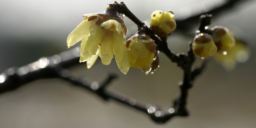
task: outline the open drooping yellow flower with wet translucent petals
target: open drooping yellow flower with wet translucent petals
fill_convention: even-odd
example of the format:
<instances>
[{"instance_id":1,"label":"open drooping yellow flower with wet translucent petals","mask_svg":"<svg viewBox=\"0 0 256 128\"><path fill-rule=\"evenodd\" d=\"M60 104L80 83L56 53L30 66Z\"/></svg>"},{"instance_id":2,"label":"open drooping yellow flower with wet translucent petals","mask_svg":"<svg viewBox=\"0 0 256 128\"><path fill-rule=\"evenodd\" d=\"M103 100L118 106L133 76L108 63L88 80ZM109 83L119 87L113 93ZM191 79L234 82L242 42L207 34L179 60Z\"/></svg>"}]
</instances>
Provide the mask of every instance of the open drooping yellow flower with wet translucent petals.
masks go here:
<instances>
[{"instance_id":1,"label":"open drooping yellow flower with wet translucent petals","mask_svg":"<svg viewBox=\"0 0 256 128\"><path fill-rule=\"evenodd\" d=\"M111 8L111 7L109 7ZM115 54L116 63L119 69L126 74L131 67L128 50L126 49L126 27L123 17L111 12L111 9L104 11L104 14L86 14L85 18L67 38L68 48L82 40L80 62L87 63L91 68L101 57L104 65L109 65Z\"/></svg>"}]
</instances>

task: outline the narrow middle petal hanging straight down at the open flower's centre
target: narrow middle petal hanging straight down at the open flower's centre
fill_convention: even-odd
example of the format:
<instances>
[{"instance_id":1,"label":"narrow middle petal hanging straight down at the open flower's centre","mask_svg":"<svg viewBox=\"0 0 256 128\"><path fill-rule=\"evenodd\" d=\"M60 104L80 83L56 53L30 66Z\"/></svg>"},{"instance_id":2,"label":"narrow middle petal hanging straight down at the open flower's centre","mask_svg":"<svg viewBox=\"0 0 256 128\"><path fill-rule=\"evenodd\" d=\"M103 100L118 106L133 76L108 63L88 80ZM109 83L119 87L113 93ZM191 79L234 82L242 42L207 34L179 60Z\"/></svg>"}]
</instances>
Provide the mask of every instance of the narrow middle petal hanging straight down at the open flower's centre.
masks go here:
<instances>
[{"instance_id":1,"label":"narrow middle petal hanging straight down at the open flower's centre","mask_svg":"<svg viewBox=\"0 0 256 128\"><path fill-rule=\"evenodd\" d=\"M100 54L101 54L102 64L104 65L110 64L114 55L113 45L114 45L113 31L107 31L100 43Z\"/></svg>"}]
</instances>

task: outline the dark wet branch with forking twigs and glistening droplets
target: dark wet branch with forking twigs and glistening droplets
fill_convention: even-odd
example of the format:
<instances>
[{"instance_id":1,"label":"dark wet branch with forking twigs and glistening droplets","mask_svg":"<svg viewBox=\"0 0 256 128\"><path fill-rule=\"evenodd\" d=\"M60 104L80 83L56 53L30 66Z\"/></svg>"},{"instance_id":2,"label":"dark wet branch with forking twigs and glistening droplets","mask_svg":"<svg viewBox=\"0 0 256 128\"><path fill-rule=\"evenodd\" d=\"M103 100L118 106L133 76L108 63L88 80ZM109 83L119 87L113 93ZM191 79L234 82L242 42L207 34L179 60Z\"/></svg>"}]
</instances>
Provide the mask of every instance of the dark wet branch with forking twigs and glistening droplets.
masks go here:
<instances>
[{"instance_id":1,"label":"dark wet branch with forking twigs and glistening droplets","mask_svg":"<svg viewBox=\"0 0 256 128\"><path fill-rule=\"evenodd\" d=\"M217 12L219 10L231 7L237 1L239 0L230 0L226 4L210 10L210 12L214 13L215 11ZM0 74L0 94L10 90L15 90L18 87L37 79L60 78L73 83L75 86L89 90L105 100L113 99L143 111L158 123L164 123L175 116L188 116L188 111L186 109L188 90L193 86L193 80L195 80L195 78L201 74L207 64L207 61L204 61L199 68L192 71L195 55L192 52L191 44L195 34L190 41L188 52L175 54L168 48L167 38L159 38L154 35L149 27L140 21L123 2L120 4L115 2L114 4L116 4L115 8L117 12L126 15L138 26L140 31L143 31L151 36L155 40L157 48L163 52L172 62L177 63L177 65L183 69L183 81L179 82L181 91L180 96L177 97L172 107L166 110L161 110L157 106L150 103L141 103L136 101L134 98L107 89L107 86L113 81L113 79L117 77L116 74L109 74L108 78L102 82L90 82L90 80L87 78L71 73L65 68L79 63L79 47L64 51L58 55L40 58L38 61L23 67L12 67L6 69L4 73ZM193 20L195 17L198 18L198 15L181 21L176 21L177 27L182 28L182 25L186 24L188 21ZM208 14L202 15L200 17L200 23L197 30L200 32L207 31L205 30L205 26L210 25L211 17L212 15Z\"/></svg>"}]
</instances>

